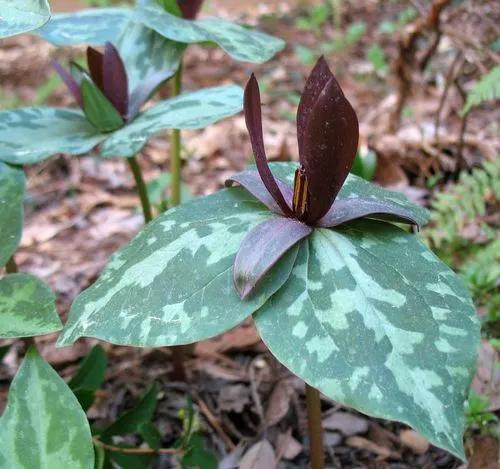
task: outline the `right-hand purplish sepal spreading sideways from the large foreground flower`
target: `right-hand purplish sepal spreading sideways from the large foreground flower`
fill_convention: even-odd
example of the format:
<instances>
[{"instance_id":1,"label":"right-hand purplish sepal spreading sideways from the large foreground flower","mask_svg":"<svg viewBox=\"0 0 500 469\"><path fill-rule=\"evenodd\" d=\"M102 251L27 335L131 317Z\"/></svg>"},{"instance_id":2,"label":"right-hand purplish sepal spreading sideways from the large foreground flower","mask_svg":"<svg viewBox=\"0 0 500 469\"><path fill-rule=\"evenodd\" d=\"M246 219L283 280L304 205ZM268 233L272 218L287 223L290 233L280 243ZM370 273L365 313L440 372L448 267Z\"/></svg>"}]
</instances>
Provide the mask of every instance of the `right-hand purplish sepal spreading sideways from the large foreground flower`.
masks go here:
<instances>
[{"instance_id":1,"label":"right-hand purplish sepal spreading sideways from the large foreground flower","mask_svg":"<svg viewBox=\"0 0 500 469\"><path fill-rule=\"evenodd\" d=\"M332 228L357 218L376 218L396 223L416 225L410 211L390 200L380 201L367 198L337 199L326 215L318 220L317 225Z\"/></svg>"}]
</instances>

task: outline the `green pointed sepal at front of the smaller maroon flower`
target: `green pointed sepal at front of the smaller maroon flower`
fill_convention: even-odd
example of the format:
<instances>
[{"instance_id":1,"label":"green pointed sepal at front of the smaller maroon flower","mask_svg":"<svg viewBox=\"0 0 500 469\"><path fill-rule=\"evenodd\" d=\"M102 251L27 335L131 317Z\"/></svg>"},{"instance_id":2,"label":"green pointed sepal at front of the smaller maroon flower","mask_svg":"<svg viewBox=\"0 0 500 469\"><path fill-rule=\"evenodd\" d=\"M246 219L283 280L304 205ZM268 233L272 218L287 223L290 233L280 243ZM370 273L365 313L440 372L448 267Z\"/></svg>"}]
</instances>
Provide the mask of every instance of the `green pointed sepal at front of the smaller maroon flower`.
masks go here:
<instances>
[{"instance_id":1,"label":"green pointed sepal at front of the smaller maroon flower","mask_svg":"<svg viewBox=\"0 0 500 469\"><path fill-rule=\"evenodd\" d=\"M85 117L98 131L112 132L123 127L120 113L90 79L84 78L80 89Z\"/></svg>"}]
</instances>

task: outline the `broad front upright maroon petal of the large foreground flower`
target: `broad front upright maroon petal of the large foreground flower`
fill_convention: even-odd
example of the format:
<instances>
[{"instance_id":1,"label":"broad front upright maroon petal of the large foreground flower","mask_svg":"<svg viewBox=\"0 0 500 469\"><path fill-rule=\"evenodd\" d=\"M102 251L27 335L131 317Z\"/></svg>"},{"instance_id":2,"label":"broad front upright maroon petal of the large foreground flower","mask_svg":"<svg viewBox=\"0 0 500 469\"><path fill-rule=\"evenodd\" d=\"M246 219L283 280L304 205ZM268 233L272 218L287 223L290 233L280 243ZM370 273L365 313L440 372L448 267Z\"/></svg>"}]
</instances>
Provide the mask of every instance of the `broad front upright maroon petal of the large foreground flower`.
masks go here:
<instances>
[{"instance_id":1,"label":"broad front upright maroon petal of the large foreground flower","mask_svg":"<svg viewBox=\"0 0 500 469\"><path fill-rule=\"evenodd\" d=\"M303 135L301 168L307 178L307 223L331 207L352 167L358 146L356 113L335 77L318 96Z\"/></svg>"}]
</instances>

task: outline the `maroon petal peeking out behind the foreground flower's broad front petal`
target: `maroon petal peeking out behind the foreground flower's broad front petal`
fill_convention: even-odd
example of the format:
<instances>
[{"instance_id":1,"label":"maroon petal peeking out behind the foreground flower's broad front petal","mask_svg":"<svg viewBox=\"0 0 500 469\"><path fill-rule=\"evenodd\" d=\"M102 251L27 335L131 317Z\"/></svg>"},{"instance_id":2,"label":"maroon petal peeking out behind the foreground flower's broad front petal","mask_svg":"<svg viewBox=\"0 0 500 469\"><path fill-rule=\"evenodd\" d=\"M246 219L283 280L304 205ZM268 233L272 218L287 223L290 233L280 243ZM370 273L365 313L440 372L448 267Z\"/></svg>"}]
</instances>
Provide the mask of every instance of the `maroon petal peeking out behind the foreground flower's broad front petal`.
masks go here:
<instances>
[{"instance_id":1,"label":"maroon petal peeking out behind the foreground flower's broad front petal","mask_svg":"<svg viewBox=\"0 0 500 469\"><path fill-rule=\"evenodd\" d=\"M302 154L304 133L314 103L332 76L333 74L328 68L325 58L321 56L307 78L304 91L300 97L299 108L297 109L297 140L299 143L299 154Z\"/></svg>"}]
</instances>

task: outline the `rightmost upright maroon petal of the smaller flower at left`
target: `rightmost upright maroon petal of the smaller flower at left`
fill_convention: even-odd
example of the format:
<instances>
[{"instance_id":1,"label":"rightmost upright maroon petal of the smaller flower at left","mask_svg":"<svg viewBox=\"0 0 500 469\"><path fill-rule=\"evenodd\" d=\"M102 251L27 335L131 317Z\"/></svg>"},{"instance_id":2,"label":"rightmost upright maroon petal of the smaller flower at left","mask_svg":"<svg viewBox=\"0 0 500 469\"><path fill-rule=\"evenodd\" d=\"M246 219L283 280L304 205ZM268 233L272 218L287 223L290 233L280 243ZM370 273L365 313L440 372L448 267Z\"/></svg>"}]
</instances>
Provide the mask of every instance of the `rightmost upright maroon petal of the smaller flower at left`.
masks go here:
<instances>
[{"instance_id":1,"label":"rightmost upright maroon petal of the smaller flower at left","mask_svg":"<svg viewBox=\"0 0 500 469\"><path fill-rule=\"evenodd\" d=\"M128 110L128 79L122 58L113 44L107 42L103 60L104 95L125 117Z\"/></svg>"}]
</instances>

